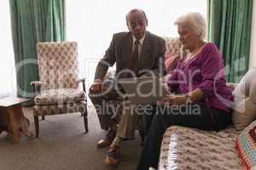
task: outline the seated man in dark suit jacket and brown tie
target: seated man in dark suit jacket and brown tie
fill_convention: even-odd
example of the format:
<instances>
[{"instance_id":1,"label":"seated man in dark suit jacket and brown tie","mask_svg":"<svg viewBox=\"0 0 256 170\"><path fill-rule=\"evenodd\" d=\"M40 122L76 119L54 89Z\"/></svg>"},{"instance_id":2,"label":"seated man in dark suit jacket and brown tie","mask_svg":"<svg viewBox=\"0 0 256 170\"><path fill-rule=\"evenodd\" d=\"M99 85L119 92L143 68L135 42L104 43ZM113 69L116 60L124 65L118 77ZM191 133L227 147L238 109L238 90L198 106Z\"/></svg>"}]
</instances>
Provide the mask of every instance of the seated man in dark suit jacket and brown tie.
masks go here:
<instances>
[{"instance_id":1,"label":"seated man in dark suit jacket and brown tie","mask_svg":"<svg viewBox=\"0 0 256 170\"><path fill-rule=\"evenodd\" d=\"M106 138L100 140L97 147L110 147L104 162L112 165L119 162L120 142L133 138L137 120L137 114L131 114L129 105L121 105L125 103L125 92L118 83L119 78L162 77L166 72L166 43L146 31L148 19L143 10L132 9L126 14L126 25L129 31L113 34L106 54L96 67L95 82L90 87L90 99L96 107L101 127L108 130ZM104 79L108 67L114 64L115 76Z\"/></svg>"}]
</instances>

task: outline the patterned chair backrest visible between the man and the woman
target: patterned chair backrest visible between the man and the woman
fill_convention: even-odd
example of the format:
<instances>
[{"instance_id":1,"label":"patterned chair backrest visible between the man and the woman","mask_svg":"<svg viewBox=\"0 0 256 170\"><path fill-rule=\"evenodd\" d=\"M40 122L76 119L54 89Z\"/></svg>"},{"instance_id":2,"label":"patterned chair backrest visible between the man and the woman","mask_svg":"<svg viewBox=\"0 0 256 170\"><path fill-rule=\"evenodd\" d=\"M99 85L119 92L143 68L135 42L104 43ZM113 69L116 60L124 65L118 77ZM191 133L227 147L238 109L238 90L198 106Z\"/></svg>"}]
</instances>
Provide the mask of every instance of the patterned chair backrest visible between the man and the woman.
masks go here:
<instances>
[{"instance_id":1,"label":"patterned chair backrest visible between the man and the woman","mask_svg":"<svg viewBox=\"0 0 256 170\"><path fill-rule=\"evenodd\" d=\"M166 40L166 54L171 55L185 55L188 53L184 50L182 43L179 41L178 37L163 37Z\"/></svg>"}]
</instances>

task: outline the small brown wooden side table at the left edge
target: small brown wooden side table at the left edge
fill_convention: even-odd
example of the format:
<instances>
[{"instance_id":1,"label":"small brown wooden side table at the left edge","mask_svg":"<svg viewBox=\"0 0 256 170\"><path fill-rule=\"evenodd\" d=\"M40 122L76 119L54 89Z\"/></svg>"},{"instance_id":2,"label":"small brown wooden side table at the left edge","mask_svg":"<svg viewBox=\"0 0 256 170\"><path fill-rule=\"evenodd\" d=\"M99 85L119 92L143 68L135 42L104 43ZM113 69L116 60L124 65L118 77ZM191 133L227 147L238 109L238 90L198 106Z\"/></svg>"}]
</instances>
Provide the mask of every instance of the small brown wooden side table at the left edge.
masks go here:
<instances>
[{"instance_id":1,"label":"small brown wooden side table at the left edge","mask_svg":"<svg viewBox=\"0 0 256 170\"><path fill-rule=\"evenodd\" d=\"M20 142L21 133L32 135L28 131L29 120L24 116L21 104L28 99L15 97L0 99L0 120L7 132L13 133L15 144Z\"/></svg>"}]
</instances>

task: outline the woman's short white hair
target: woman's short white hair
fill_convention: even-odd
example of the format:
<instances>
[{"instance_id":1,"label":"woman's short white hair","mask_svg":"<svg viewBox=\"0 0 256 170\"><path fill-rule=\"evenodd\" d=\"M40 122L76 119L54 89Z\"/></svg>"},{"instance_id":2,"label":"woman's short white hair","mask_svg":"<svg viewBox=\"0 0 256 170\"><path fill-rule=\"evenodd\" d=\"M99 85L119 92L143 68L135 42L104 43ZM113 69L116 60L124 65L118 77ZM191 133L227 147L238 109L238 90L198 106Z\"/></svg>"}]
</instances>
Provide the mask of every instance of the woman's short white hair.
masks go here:
<instances>
[{"instance_id":1,"label":"woman's short white hair","mask_svg":"<svg viewBox=\"0 0 256 170\"><path fill-rule=\"evenodd\" d=\"M200 13L184 14L179 17L174 24L193 31L195 35L199 36L202 40L207 36L207 21Z\"/></svg>"}]
</instances>

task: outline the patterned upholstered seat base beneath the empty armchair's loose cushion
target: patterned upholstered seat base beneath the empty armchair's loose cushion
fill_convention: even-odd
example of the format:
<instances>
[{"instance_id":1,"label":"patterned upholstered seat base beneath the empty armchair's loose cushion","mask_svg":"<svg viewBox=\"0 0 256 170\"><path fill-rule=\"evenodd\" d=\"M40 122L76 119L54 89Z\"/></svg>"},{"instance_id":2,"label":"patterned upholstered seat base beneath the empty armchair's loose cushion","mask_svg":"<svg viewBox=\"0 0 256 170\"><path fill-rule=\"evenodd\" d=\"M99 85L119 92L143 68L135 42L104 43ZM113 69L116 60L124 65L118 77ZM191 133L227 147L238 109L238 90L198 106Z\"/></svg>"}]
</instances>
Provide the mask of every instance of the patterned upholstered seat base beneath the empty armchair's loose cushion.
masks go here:
<instances>
[{"instance_id":1,"label":"patterned upholstered seat base beneath the empty armchair's loose cushion","mask_svg":"<svg viewBox=\"0 0 256 170\"><path fill-rule=\"evenodd\" d=\"M33 108L34 116L58 115L65 113L75 113L86 111L86 102L69 102L64 105L35 105Z\"/></svg>"}]
</instances>

